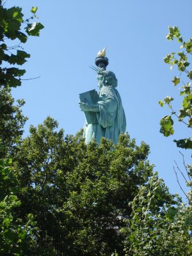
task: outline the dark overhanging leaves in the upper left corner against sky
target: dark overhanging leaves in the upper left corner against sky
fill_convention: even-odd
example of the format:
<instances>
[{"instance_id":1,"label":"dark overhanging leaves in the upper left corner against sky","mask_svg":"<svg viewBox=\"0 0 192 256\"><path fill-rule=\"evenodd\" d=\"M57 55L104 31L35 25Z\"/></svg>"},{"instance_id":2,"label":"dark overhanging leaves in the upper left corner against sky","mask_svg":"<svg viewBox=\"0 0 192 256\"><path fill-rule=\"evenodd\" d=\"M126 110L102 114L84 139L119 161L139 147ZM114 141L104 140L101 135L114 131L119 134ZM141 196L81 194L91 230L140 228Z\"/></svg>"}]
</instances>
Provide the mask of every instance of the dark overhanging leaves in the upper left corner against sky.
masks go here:
<instances>
[{"instance_id":1,"label":"dark overhanging leaves in the upper left corner against sky","mask_svg":"<svg viewBox=\"0 0 192 256\"><path fill-rule=\"evenodd\" d=\"M22 8L5 8L3 1L0 1L0 87L17 87L21 84L20 77L26 70L18 65L22 66L30 57L23 51L22 44L27 42L29 35L39 36L40 29L44 28L40 22L32 22L36 18L36 10L37 7L33 7L32 16L24 19Z\"/></svg>"}]
</instances>

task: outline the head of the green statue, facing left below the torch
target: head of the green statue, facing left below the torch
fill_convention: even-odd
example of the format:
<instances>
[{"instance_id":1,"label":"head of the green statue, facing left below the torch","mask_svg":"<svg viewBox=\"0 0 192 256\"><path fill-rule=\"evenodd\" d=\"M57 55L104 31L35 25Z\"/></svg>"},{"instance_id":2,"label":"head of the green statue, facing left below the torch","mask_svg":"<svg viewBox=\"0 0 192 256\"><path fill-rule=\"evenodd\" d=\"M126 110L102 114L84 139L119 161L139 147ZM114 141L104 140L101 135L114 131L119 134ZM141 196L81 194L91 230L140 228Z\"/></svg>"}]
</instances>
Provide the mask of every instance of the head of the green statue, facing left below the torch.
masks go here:
<instances>
[{"instance_id":1,"label":"head of the green statue, facing left below the torch","mask_svg":"<svg viewBox=\"0 0 192 256\"><path fill-rule=\"evenodd\" d=\"M110 70L104 70L101 74L98 74L97 81L99 89L102 88L102 86L115 88L118 83L115 74Z\"/></svg>"}]
</instances>

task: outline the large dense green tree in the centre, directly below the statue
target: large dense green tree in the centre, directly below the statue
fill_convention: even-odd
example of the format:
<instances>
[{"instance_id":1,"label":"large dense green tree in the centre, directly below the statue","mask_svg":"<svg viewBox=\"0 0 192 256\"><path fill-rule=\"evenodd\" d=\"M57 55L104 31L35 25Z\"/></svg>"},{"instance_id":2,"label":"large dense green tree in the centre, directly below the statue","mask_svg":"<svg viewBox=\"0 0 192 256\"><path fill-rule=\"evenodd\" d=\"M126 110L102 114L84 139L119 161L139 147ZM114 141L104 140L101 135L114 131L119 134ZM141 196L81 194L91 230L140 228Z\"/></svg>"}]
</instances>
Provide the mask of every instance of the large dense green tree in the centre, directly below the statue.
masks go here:
<instances>
[{"instance_id":1,"label":"large dense green tree in the centre, directly below the statue","mask_svg":"<svg viewBox=\"0 0 192 256\"><path fill-rule=\"evenodd\" d=\"M50 117L31 126L14 159L18 216L33 214L40 230L31 255L124 255L116 229L125 223L117 217L131 215L129 202L152 175L148 145L123 134L115 146L106 139L85 145L81 132L57 129Z\"/></svg>"}]
</instances>

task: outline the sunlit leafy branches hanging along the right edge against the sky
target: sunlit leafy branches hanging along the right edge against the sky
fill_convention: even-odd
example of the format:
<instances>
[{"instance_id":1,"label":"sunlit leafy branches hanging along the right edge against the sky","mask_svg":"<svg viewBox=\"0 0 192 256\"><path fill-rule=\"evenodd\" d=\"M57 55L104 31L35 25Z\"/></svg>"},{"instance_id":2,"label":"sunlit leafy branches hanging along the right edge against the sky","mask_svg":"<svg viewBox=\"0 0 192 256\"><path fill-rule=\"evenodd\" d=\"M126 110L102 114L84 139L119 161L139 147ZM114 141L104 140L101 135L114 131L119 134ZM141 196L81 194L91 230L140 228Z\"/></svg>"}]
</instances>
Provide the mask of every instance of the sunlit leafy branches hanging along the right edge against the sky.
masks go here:
<instances>
[{"instance_id":1,"label":"sunlit leafy branches hanging along the right edge against the sky","mask_svg":"<svg viewBox=\"0 0 192 256\"><path fill-rule=\"evenodd\" d=\"M170 54L167 54L164 58L164 62L171 65L170 68L172 69L174 65L177 66L180 76L174 76L173 77L173 84L174 86L177 86L180 83L181 75L184 77L184 79L188 79L186 83L184 83L180 88L182 88L182 91L180 91L180 96L183 97L182 99L182 107L179 109L179 113L173 109L172 101L173 97L166 97L163 100L159 100L159 104L161 107L164 106L164 104L167 104L168 107L172 110L171 115L164 116L161 121L161 129L160 132L164 134L164 136L170 136L174 133L173 129L173 116L177 118L179 122L182 122L182 124L186 125L187 127L192 127L192 94L191 94L191 80L192 80L192 70L189 68L190 63L188 62L189 56L192 54L192 38L190 38L187 42L184 42L180 35L179 28L177 27L171 27L169 26L169 33L166 35L167 40L173 40L173 38L177 38L177 41L181 44L180 49L183 49L183 51L177 52L177 56L175 52L171 52ZM177 147L180 148L192 148L192 141L191 138L181 138L180 140L174 140L177 144Z\"/></svg>"}]
</instances>

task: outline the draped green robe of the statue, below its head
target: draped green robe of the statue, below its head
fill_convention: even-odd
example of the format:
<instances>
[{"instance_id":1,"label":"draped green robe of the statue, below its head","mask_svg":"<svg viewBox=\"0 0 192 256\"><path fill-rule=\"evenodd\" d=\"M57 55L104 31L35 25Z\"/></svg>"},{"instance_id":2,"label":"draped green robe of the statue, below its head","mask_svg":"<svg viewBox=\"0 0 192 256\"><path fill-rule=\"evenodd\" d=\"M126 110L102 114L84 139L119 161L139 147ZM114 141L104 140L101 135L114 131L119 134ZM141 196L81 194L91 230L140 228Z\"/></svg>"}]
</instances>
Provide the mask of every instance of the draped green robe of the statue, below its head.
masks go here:
<instances>
[{"instance_id":1,"label":"draped green robe of the statue, below its head","mask_svg":"<svg viewBox=\"0 0 192 256\"><path fill-rule=\"evenodd\" d=\"M118 91L112 86L103 86L99 92L98 124L84 125L83 137L88 144L92 139L97 143L102 137L118 143L118 136L126 129L126 120L122 100Z\"/></svg>"}]
</instances>

